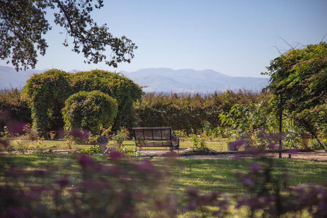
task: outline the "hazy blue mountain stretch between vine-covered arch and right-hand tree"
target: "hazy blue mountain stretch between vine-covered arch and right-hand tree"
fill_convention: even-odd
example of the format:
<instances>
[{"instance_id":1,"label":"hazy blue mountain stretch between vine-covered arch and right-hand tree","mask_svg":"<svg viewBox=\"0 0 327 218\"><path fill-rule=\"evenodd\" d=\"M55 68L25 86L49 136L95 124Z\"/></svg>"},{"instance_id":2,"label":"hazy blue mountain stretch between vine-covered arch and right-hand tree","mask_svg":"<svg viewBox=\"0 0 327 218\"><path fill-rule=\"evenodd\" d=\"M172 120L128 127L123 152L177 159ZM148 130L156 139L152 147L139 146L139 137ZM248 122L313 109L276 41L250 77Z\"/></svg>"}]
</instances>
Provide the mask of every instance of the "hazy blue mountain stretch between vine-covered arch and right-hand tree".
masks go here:
<instances>
[{"instance_id":1,"label":"hazy blue mountain stretch between vine-covered arch and right-hand tree","mask_svg":"<svg viewBox=\"0 0 327 218\"><path fill-rule=\"evenodd\" d=\"M171 68L146 68L134 72L120 71L140 85L148 86L144 91L156 92L213 92L226 89L258 89L268 84L267 78L232 77L214 70Z\"/></svg>"}]
</instances>

